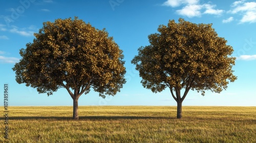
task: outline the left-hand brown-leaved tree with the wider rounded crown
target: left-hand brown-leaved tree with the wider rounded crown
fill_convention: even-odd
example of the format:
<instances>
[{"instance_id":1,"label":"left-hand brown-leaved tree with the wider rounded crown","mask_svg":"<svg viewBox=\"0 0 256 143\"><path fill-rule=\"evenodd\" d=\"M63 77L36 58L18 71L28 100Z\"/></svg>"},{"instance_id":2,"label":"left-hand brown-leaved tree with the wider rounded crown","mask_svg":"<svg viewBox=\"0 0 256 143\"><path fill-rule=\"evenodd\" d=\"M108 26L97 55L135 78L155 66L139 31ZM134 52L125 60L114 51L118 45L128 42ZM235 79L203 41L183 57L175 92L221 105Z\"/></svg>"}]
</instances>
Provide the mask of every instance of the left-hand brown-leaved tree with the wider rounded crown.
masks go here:
<instances>
[{"instance_id":1,"label":"left-hand brown-leaved tree with the wider rounded crown","mask_svg":"<svg viewBox=\"0 0 256 143\"><path fill-rule=\"evenodd\" d=\"M108 32L95 29L78 17L44 22L33 43L19 54L13 70L17 83L53 94L66 88L78 120L78 98L90 89L114 96L125 83L122 51Z\"/></svg>"}]
</instances>

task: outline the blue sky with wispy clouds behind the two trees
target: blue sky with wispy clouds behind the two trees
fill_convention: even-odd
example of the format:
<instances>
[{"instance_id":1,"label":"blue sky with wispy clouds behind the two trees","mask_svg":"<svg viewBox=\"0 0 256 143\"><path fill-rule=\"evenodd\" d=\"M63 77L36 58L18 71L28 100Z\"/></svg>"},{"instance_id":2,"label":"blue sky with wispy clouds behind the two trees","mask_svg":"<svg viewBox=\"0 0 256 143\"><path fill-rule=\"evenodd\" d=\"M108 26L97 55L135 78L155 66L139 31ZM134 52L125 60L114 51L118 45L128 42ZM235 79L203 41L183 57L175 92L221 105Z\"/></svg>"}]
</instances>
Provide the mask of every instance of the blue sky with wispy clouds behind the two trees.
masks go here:
<instances>
[{"instance_id":1,"label":"blue sky with wispy clouds behind the two trees","mask_svg":"<svg viewBox=\"0 0 256 143\"><path fill-rule=\"evenodd\" d=\"M138 71L131 60L140 46L148 45L147 36L156 33L168 20L184 18L195 23L212 23L237 57L233 66L238 80L221 93L206 91L204 97L189 91L183 105L193 106L256 106L256 2L203 0L104 0L60 1L20 0L0 1L0 86L9 84L10 106L72 106L65 89L48 97L36 89L17 84L12 67L21 58L19 49L32 42L33 33L42 22L78 16L97 29L106 28L123 50L127 80L115 97L98 97L90 92L79 98L79 105L167 105L176 106L169 89L160 93L142 87ZM4 87L0 87L0 92Z\"/></svg>"}]
</instances>

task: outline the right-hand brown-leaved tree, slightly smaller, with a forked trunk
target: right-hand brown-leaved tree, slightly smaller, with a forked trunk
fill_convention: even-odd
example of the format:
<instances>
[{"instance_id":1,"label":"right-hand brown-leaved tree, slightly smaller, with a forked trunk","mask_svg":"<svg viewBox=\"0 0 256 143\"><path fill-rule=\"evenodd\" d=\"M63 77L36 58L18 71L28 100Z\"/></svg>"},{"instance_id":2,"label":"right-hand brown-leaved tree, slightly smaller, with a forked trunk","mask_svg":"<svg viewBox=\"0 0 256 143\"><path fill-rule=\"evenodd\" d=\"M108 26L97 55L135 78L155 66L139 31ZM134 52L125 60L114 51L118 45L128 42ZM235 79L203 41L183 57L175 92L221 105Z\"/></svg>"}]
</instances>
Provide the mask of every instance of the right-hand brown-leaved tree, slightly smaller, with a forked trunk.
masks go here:
<instances>
[{"instance_id":1,"label":"right-hand brown-leaved tree, slightly smaller, with a forked trunk","mask_svg":"<svg viewBox=\"0 0 256 143\"><path fill-rule=\"evenodd\" d=\"M190 89L202 96L205 90L220 93L237 79L231 69L236 58L229 56L233 49L211 26L169 20L167 26L159 26L159 33L148 36L150 45L141 46L132 60L144 88L155 93L170 89L177 118L182 118L182 102Z\"/></svg>"}]
</instances>

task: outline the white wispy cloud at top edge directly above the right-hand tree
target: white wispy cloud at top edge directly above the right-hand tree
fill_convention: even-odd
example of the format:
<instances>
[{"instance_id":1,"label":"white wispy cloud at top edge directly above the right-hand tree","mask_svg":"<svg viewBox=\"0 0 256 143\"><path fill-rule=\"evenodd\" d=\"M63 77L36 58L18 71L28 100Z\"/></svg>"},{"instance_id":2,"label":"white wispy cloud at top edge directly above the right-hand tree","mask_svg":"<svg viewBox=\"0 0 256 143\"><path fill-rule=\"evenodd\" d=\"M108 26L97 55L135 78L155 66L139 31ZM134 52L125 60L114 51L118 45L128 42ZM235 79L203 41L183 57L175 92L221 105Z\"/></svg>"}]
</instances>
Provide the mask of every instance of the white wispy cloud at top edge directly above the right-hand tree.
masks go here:
<instances>
[{"instance_id":1,"label":"white wispy cloud at top edge directly above the right-hand tree","mask_svg":"<svg viewBox=\"0 0 256 143\"><path fill-rule=\"evenodd\" d=\"M182 9L176 10L177 14L191 17L200 17L202 14L221 15L224 10L215 9L216 5L211 3L200 4L199 0L167 0L163 6L179 7Z\"/></svg>"}]
</instances>

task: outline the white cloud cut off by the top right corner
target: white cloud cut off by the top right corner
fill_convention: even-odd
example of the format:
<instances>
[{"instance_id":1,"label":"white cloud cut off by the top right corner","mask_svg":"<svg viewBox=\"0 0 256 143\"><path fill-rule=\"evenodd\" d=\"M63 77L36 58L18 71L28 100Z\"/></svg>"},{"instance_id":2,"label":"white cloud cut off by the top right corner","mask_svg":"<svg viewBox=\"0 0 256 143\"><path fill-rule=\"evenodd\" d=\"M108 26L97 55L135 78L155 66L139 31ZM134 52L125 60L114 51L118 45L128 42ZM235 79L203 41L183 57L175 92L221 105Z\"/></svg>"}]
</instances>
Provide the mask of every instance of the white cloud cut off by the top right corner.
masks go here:
<instances>
[{"instance_id":1,"label":"white cloud cut off by the top right corner","mask_svg":"<svg viewBox=\"0 0 256 143\"><path fill-rule=\"evenodd\" d=\"M231 7L232 9L229 13L242 15L240 23L256 22L256 2L245 2L244 0L236 1L231 5Z\"/></svg>"}]
</instances>

